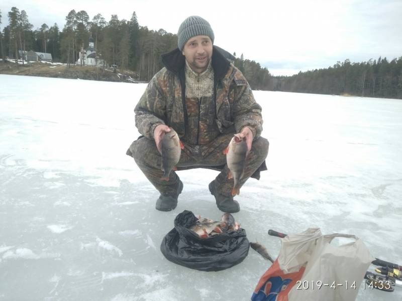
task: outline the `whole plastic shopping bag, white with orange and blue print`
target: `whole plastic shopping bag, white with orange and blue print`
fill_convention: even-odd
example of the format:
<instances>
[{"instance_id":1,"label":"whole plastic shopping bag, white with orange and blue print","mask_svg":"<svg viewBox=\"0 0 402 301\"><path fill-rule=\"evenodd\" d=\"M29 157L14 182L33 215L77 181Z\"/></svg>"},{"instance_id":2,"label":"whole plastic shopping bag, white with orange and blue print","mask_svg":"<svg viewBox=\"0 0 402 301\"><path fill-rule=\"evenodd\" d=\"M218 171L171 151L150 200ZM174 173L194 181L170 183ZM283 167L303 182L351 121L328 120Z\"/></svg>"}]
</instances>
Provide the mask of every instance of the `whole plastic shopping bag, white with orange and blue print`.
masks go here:
<instances>
[{"instance_id":1,"label":"whole plastic shopping bag, white with orange and blue print","mask_svg":"<svg viewBox=\"0 0 402 301\"><path fill-rule=\"evenodd\" d=\"M354 241L331 244L337 237ZM278 257L261 276L251 300L354 301L356 288L373 259L364 242L352 234L323 235L319 228L309 228L288 235L282 240Z\"/></svg>"}]
</instances>

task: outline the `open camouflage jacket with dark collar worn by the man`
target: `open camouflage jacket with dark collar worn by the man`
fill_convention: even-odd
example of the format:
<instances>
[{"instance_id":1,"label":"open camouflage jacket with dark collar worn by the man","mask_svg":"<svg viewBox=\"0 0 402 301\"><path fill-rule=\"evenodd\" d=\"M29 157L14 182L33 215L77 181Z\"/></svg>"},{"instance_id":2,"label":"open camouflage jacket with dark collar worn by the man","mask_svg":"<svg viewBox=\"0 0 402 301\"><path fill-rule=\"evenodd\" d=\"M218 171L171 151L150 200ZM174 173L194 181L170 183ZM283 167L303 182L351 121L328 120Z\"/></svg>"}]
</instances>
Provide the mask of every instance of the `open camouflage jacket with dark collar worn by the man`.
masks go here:
<instances>
[{"instance_id":1,"label":"open camouflage jacket with dark collar worn by the man","mask_svg":"<svg viewBox=\"0 0 402 301\"><path fill-rule=\"evenodd\" d=\"M185 105L185 58L178 49L162 55L162 68L149 82L135 107L135 124L138 131L153 139L157 125L166 124L175 129L179 137L185 136L187 112ZM256 103L250 85L243 74L217 50L213 49L214 100L209 112L214 126L221 133L240 132L250 127L254 139L262 131L261 106Z\"/></svg>"}]
</instances>

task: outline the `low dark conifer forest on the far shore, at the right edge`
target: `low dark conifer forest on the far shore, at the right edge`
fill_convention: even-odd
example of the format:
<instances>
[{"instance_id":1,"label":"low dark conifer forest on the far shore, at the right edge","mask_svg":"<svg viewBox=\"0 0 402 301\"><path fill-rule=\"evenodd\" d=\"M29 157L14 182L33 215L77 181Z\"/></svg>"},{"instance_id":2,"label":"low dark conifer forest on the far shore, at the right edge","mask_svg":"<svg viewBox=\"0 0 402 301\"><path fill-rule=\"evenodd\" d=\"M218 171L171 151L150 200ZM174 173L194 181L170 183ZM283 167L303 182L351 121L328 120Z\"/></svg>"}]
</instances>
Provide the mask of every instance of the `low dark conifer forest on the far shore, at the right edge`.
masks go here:
<instances>
[{"instance_id":1,"label":"low dark conifer forest on the far shore, at the right edge","mask_svg":"<svg viewBox=\"0 0 402 301\"><path fill-rule=\"evenodd\" d=\"M272 78L269 90L402 99L402 57L338 61L333 67Z\"/></svg>"}]
</instances>

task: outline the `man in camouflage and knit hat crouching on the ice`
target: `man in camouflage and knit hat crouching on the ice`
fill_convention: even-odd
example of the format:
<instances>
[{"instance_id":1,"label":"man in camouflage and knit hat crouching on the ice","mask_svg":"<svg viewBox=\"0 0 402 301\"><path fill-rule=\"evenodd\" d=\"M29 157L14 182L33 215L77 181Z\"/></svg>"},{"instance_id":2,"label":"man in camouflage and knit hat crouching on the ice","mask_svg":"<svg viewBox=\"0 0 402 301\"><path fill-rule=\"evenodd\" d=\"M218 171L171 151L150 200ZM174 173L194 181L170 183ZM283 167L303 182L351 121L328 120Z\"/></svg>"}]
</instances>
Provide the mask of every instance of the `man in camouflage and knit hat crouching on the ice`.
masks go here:
<instances>
[{"instance_id":1,"label":"man in camouflage and knit hat crouching on the ice","mask_svg":"<svg viewBox=\"0 0 402 301\"><path fill-rule=\"evenodd\" d=\"M198 16L180 25L175 50L163 54L161 69L149 82L135 112L135 124L143 135L127 150L148 180L160 192L156 209L170 211L177 206L183 183L172 171L161 179L162 156L157 146L173 128L183 143L177 170L209 168L221 173L209 184L218 208L240 210L233 199L223 154L235 133L245 139L249 154L240 187L249 177L259 179L266 170L268 140L262 131L261 106L243 74L213 46L210 24Z\"/></svg>"}]
</instances>

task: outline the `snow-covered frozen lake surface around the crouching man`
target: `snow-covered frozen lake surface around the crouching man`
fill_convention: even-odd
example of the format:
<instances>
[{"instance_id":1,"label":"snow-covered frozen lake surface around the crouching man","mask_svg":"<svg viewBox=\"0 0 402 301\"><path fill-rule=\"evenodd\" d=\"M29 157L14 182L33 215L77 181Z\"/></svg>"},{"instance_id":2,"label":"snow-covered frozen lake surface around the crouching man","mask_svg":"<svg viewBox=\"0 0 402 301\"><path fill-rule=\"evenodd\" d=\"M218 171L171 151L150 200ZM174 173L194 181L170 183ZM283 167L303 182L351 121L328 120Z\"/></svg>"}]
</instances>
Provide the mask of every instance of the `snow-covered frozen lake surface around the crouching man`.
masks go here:
<instances>
[{"instance_id":1,"label":"snow-covered frozen lake surface around the crouching man","mask_svg":"<svg viewBox=\"0 0 402 301\"><path fill-rule=\"evenodd\" d=\"M220 272L175 265L159 250L175 216L220 212L217 172L178 172L177 208L126 156L145 84L0 75L0 299L249 300L270 263L254 250ZM273 257L285 233L320 227L362 238L402 263L402 100L254 91L270 142L268 171L234 214ZM374 266L370 266L373 270ZM358 300L402 298L362 288Z\"/></svg>"}]
</instances>

